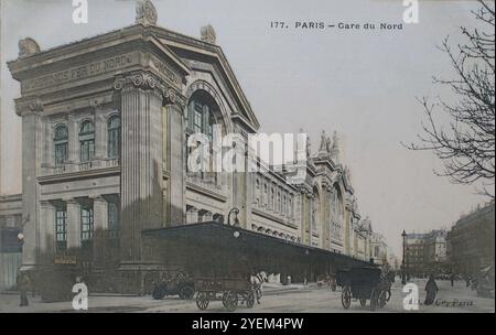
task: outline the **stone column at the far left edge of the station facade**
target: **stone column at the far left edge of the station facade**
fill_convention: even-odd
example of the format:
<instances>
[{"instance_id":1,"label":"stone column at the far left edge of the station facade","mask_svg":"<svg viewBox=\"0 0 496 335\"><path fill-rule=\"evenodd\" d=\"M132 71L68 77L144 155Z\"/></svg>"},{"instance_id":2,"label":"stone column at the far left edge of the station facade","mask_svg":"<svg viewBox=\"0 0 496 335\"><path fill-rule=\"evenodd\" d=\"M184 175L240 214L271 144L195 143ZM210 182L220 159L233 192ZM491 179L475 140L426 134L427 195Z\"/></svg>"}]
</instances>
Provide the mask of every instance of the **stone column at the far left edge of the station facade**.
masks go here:
<instances>
[{"instance_id":1,"label":"stone column at the far left edge of the station facade","mask_svg":"<svg viewBox=\"0 0 496 335\"><path fill-rule=\"evenodd\" d=\"M23 270L33 269L37 263L40 247L40 185L43 105L37 98L20 98L15 110L22 117L22 223L24 246Z\"/></svg>"}]
</instances>

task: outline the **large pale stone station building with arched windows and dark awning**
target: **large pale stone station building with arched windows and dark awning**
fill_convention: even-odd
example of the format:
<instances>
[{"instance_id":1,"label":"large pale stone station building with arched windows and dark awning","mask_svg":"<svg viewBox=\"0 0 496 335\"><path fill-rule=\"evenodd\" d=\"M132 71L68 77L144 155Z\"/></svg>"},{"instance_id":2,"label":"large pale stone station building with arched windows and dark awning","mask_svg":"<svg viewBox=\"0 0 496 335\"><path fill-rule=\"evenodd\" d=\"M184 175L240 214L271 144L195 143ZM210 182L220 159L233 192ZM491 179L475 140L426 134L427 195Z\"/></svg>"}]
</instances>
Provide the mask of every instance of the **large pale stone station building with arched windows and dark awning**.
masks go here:
<instances>
[{"instance_id":1,"label":"large pale stone station building with arched windows and dark awning","mask_svg":"<svg viewBox=\"0 0 496 335\"><path fill-rule=\"evenodd\" d=\"M8 63L21 84L21 269L35 280L76 269L93 291L143 293L177 269L301 282L368 262L371 227L337 137L298 185L273 169L187 171L192 132L247 138L259 123L212 26L194 39L155 23L46 51L24 39Z\"/></svg>"}]
</instances>

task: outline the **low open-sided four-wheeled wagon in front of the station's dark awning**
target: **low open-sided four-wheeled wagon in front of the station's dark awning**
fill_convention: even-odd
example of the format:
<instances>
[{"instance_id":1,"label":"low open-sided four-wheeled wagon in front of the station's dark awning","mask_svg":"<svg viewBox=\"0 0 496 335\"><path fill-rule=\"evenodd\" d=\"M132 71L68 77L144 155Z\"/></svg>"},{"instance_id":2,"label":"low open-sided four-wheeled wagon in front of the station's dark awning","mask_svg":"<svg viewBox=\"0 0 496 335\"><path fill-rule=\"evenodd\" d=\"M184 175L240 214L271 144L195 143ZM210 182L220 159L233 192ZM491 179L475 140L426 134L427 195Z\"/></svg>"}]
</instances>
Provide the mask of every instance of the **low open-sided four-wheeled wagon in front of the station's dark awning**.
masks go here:
<instances>
[{"instance_id":1,"label":"low open-sided four-wheeled wagon in front of the station's dark awning","mask_svg":"<svg viewBox=\"0 0 496 335\"><path fill-rule=\"evenodd\" d=\"M248 279L244 278L197 278L195 281L196 305L206 310L211 301L222 301L224 307L233 312L238 303L251 309L255 304L257 290Z\"/></svg>"}]
</instances>

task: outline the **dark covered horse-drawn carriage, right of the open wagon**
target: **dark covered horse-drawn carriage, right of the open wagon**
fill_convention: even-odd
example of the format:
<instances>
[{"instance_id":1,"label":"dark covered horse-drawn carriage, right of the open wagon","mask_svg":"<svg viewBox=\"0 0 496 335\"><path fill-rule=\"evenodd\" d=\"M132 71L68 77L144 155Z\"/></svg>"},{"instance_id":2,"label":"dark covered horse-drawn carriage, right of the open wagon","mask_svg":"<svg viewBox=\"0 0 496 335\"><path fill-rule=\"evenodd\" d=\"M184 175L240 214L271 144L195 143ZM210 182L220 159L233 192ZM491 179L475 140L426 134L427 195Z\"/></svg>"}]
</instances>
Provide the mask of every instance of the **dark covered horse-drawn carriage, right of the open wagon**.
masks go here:
<instances>
[{"instance_id":1,"label":"dark covered horse-drawn carriage, right of the open wagon","mask_svg":"<svg viewBox=\"0 0 496 335\"><path fill-rule=\"evenodd\" d=\"M390 279L375 267L355 267L336 273L336 281L342 287L341 302L349 309L352 299L357 299L362 306L370 300L370 310L384 307L390 299Z\"/></svg>"}]
</instances>

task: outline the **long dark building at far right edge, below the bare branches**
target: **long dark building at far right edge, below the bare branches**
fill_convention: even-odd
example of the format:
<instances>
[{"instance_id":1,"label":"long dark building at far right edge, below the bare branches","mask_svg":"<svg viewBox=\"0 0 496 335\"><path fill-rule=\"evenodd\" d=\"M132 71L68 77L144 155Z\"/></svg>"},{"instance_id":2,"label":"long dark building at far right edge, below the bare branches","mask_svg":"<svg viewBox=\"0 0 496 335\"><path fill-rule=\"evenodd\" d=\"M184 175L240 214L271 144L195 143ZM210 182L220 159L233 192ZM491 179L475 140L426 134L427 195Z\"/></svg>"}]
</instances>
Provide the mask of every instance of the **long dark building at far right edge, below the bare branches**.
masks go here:
<instances>
[{"instance_id":1,"label":"long dark building at far right edge, below the bare branches","mask_svg":"<svg viewBox=\"0 0 496 335\"><path fill-rule=\"evenodd\" d=\"M472 274L494 266L494 203L456 221L448 233L448 257L453 270Z\"/></svg>"}]
</instances>

